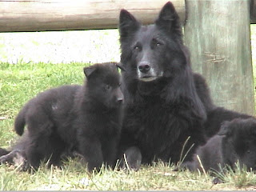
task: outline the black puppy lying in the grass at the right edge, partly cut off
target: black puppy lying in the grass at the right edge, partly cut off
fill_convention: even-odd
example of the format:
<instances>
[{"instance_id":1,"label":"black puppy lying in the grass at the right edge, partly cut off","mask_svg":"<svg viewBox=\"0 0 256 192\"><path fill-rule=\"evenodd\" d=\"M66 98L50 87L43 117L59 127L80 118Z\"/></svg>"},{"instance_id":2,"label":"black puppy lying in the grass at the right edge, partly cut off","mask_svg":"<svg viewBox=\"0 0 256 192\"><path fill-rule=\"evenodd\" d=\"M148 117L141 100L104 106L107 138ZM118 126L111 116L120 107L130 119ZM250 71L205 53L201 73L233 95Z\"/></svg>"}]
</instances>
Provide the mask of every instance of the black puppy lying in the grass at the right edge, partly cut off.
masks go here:
<instances>
[{"instance_id":1,"label":"black puppy lying in the grass at the right edge, partly cut off","mask_svg":"<svg viewBox=\"0 0 256 192\"><path fill-rule=\"evenodd\" d=\"M201 162L199 162L199 160ZM217 135L198 147L193 162L187 162L189 170L214 170L229 165L234 168L235 162L248 169L256 169L256 119L235 118L223 122Z\"/></svg>"}]
</instances>

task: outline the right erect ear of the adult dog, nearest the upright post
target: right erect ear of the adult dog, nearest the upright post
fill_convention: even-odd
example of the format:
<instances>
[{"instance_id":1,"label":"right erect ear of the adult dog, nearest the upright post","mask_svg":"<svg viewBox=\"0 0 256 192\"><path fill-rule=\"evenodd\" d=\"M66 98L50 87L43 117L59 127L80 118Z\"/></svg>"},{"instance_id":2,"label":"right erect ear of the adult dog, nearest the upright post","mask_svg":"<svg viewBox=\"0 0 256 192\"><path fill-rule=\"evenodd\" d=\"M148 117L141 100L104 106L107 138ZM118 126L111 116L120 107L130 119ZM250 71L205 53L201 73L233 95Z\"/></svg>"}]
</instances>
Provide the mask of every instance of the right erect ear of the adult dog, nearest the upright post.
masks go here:
<instances>
[{"instance_id":1,"label":"right erect ear of the adult dog, nearest the upright post","mask_svg":"<svg viewBox=\"0 0 256 192\"><path fill-rule=\"evenodd\" d=\"M167 32L177 31L181 33L179 17L171 2L167 2L166 5L162 7L155 24Z\"/></svg>"}]
</instances>

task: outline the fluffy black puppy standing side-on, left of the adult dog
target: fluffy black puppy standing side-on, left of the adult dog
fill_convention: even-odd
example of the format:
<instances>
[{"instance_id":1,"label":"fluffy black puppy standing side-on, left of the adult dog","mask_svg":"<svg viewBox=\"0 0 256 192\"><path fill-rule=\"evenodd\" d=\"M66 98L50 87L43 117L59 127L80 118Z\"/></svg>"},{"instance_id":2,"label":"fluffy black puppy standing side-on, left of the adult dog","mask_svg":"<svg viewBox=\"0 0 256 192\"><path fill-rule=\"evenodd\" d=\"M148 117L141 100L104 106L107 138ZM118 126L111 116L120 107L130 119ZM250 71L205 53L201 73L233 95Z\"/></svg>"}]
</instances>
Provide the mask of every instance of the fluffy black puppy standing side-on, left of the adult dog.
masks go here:
<instances>
[{"instance_id":1,"label":"fluffy black puppy standing side-on, left of the adult dog","mask_svg":"<svg viewBox=\"0 0 256 192\"><path fill-rule=\"evenodd\" d=\"M25 152L37 169L43 159L59 165L62 154L78 151L88 170L113 165L122 125L123 94L115 63L85 67L84 86L60 86L32 98L15 119L19 135L14 150Z\"/></svg>"}]
</instances>

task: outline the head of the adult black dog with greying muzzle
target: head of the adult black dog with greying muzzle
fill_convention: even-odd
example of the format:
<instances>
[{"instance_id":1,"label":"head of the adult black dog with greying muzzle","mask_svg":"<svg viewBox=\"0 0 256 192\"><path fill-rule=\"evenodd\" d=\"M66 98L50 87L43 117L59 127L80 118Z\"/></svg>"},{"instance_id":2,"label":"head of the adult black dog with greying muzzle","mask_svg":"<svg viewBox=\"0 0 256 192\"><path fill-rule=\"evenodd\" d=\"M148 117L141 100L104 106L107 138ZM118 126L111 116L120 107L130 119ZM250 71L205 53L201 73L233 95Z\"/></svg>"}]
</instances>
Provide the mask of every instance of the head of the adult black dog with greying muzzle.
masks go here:
<instances>
[{"instance_id":1,"label":"head of the adult black dog with greying muzzle","mask_svg":"<svg viewBox=\"0 0 256 192\"><path fill-rule=\"evenodd\" d=\"M151 82L177 74L186 63L182 50L182 29L171 2L167 2L154 25L142 26L127 10L119 18L121 62L126 73Z\"/></svg>"}]
</instances>

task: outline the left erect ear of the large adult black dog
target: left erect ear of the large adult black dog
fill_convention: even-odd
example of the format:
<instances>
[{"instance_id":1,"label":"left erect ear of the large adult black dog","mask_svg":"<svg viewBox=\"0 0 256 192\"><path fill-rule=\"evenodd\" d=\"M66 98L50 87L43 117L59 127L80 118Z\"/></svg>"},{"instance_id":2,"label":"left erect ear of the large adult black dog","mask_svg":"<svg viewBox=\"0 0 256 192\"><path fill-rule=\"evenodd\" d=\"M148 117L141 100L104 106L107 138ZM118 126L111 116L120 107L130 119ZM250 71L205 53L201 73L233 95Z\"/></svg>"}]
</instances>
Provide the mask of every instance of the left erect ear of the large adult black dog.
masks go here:
<instances>
[{"instance_id":1,"label":"left erect ear of the large adult black dog","mask_svg":"<svg viewBox=\"0 0 256 192\"><path fill-rule=\"evenodd\" d=\"M119 15L120 38L126 38L129 34L134 34L138 30L140 23L127 10L121 10Z\"/></svg>"}]
</instances>

